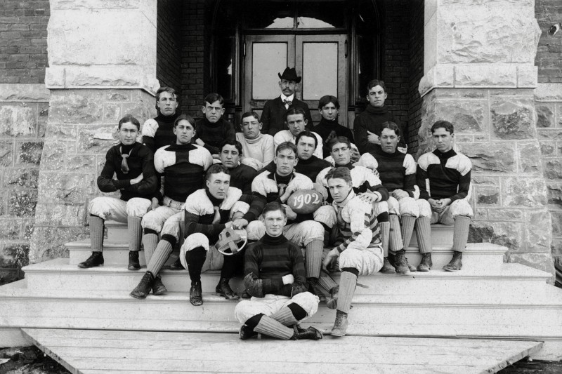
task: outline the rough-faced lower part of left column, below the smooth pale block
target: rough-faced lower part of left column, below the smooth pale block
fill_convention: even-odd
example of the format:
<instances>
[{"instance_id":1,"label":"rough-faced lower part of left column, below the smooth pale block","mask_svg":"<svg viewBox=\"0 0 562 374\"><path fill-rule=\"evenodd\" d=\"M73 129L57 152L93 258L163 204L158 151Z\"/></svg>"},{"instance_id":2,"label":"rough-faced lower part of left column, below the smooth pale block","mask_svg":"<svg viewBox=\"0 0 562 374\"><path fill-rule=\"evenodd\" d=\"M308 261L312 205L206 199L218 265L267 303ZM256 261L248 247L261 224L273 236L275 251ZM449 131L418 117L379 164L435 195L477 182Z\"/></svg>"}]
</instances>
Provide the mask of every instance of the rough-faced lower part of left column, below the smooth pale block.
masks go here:
<instances>
[{"instance_id":1,"label":"rough-faced lower part of left column, below the smooth pale block","mask_svg":"<svg viewBox=\"0 0 562 374\"><path fill-rule=\"evenodd\" d=\"M67 257L64 243L88 236L86 207L101 194L96 178L117 144L117 122L155 116L155 98L143 90L51 90L50 105L30 262Z\"/></svg>"}]
</instances>

